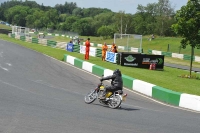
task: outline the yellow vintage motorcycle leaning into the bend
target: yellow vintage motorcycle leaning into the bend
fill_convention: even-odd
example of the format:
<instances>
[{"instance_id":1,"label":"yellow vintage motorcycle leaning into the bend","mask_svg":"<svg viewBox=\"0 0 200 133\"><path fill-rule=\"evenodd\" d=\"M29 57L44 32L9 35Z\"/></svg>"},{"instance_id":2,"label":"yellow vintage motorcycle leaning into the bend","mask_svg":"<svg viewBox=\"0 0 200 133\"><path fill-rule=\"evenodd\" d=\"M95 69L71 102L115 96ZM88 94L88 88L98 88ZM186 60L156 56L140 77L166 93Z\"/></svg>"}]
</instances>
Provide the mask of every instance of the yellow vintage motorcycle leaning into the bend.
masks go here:
<instances>
[{"instance_id":1,"label":"yellow vintage motorcycle leaning into the bend","mask_svg":"<svg viewBox=\"0 0 200 133\"><path fill-rule=\"evenodd\" d=\"M92 89L90 93L88 93L85 96L85 103L90 104L94 102L97 98L99 99L100 96L102 96L104 91L104 84L101 81L100 84L98 84L96 89ZM99 99L99 102L103 105L108 105L112 109L116 109L121 107L122 101L126 100L127 94L123 94L122 90L118 90L115 92L107 92L105 99Z\"/></svg>"}]
</instances>

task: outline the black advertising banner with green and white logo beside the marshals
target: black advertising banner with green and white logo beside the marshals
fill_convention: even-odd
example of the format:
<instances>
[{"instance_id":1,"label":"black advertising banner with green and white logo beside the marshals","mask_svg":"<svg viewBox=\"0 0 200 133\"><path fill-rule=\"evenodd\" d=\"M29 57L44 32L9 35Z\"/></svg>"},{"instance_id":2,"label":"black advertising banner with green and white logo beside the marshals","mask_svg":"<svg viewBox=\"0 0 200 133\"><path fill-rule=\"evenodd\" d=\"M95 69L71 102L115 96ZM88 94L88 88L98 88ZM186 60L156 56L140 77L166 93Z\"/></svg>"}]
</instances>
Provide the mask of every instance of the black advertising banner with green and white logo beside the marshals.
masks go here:
<instances>
[{"instance_id":1,"label":"black advertising banner with green and white logo beside the marshals","mask_svg":"<svg viewBox=\"0 0 200 133\"><path fill-rule=\"evenodd\" d=\"M147 54L133 54L121 53L120 65L138 68L149 68L150 64L156 64L156 69L163 69L164 55L147 55Z\"/></svg>"}]
</instances>

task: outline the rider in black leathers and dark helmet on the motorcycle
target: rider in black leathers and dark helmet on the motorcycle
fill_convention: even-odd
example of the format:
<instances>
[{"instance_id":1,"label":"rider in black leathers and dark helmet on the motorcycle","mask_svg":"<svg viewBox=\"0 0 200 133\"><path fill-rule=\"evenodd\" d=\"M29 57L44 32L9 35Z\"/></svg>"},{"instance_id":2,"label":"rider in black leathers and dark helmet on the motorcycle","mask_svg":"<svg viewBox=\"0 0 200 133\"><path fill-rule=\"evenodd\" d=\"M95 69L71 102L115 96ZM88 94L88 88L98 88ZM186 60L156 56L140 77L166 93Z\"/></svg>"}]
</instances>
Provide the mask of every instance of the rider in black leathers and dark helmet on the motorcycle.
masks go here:
<instances>
[{"instance_id":1,"label":"rider in black leathers and dark helmet on the motorcycle","mask_svg":"<svg viewBox=\"0 0 200 133\"><path fill-rule=\"evenodd\" d=\"M100 79L100 81L103 80L109 80L112 79L111 81L111 86L106 86L102 96L100 97L101 100L105 99L105 95L108 91L111 91L112 93L117 91L117 90L122 90L123 89L123 80L122 80L122 74L121 71L119 69L116 69L113 72L113 75L107 76L107 77L103 77Z\"/></svg>"}]
</instances>

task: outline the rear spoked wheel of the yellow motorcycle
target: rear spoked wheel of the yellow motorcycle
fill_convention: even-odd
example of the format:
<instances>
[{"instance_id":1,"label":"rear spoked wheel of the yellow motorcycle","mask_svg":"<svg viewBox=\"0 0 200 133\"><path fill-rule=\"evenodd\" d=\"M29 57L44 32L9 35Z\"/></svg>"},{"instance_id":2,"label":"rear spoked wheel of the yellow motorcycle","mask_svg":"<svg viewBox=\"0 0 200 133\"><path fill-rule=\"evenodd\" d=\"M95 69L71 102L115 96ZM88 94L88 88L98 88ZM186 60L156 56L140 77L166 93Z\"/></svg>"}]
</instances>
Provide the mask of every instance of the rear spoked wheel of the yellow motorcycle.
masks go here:
<instances>
[{"instance_id":1,"label":"rear spoked wheel of the yellow motorcycle","mask_svg":"<svg viewBox=\"0 0 200 133\"><path fill-rule=\"evenodd\" d=\"M110 108L112 108L112 109L116 109L116 108L118 108L120 105L121 105L121 103L122 103L122 100L121 100L121 98L120 98L120 96L119 95L116 95L116 96L111 96L110 97L110 101L109 101L109 104L108 104L108 106L110 107Z\"/></svg>"}]
</instances>

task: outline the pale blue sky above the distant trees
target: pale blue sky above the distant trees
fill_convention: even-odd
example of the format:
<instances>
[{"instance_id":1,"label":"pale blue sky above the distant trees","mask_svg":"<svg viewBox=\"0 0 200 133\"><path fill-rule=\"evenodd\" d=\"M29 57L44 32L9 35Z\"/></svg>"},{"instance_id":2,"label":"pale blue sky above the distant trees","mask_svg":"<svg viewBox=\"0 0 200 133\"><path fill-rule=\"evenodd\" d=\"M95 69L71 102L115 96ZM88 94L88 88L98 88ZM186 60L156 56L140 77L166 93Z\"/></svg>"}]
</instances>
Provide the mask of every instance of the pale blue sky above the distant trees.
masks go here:
<instances>
[{"instance_id":1,"label":"pale blue sky above the distant trees","mask_svg":"<svg viewBox=\"0 0 200 133\"><path fill-rule=\"evenodd\" d=\"M108 8L113 12L125 11L125 13L135 14L138 4L147 6L149 3L158 3L158 0L33 0L38 4L54 7L56 4L64 4L67 2L76 2L81 8ZM187 4L188 0L170 0L171 6L175 10L179 10L182 6Z\"/></svg>"}]
</instances>

